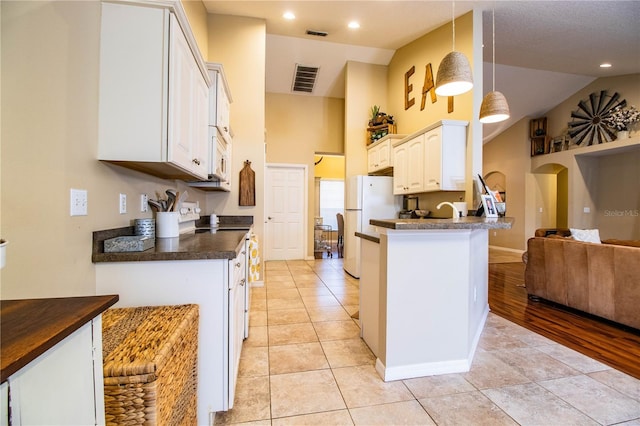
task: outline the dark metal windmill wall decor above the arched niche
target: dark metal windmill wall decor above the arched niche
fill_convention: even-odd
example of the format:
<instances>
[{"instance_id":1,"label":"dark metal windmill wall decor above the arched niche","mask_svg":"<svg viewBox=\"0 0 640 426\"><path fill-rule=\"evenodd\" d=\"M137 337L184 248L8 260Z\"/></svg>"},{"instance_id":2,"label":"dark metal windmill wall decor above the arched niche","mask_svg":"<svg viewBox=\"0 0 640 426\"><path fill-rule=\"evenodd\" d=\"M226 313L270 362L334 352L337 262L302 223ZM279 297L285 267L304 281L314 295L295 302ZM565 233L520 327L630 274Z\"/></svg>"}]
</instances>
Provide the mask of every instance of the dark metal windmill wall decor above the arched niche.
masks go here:
<instances>
[{"instance_id":1,"label":"dark metal windmill wall decor above the arched niche","mask_svg":"<svg viewBox=\"0 0 640 426\"><path fill-rule=\"evenodd\" d=\"M584 143L583 146L615 140L615 130L607 126L604 119L614 108L626 105L627 101L621 100L618 92L613 95L609 95L606 90L591 93L589 99L578 102L578 109L571 113L569 136L576 145Z\"/></svg>"}]
</instances>

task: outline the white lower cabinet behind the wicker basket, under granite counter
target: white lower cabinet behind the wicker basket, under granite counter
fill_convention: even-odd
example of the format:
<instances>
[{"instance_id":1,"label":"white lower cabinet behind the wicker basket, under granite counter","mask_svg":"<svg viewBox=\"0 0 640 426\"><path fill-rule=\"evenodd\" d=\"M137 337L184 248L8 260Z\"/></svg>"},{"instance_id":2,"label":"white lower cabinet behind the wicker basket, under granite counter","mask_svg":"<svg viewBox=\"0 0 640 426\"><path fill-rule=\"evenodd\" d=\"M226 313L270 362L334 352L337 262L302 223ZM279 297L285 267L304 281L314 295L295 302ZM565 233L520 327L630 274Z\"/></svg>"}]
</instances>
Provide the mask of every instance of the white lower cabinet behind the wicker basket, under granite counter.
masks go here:
<instances>
[{"instance_id":1,"label":"white lower cabinet behind the wicker basket, under granite counter","mask_svg":"<svg viewBox=\"0 0 640 426\"><path fill-rule=\"evenodd\" d=\"M114 307L199 306L198 424L213 424L215 412L233 407L248 316L246 241L232 260L96 264L97 294L118 294Z\"/></svg>"}]
</instances>

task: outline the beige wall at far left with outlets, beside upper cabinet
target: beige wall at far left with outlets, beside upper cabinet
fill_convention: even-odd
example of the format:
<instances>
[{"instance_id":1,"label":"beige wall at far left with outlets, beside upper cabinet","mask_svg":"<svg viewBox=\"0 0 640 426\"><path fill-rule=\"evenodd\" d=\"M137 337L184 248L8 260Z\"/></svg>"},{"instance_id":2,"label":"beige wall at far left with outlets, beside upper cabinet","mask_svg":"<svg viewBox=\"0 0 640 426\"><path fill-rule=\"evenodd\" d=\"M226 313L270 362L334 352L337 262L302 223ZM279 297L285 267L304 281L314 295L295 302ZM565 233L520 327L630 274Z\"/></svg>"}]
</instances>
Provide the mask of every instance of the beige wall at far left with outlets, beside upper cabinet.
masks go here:
<instances>
[{"instance_id":1,"label":"beige wall at far left with outlets, beside upper cabinet","mask_svg":"<svg viewBox=\"0 0 640 426\"><path fill-rule=\"evenodd\" d=\"M95 294L92 232L151 217L139 197L184 184L96 160L100 2L0 2L2 299ZM70 188L88 216L70 217ZM189 200L201 201L199 191ZM118 213L119 193L128 213Z\"/></svg>"}]
</instances>

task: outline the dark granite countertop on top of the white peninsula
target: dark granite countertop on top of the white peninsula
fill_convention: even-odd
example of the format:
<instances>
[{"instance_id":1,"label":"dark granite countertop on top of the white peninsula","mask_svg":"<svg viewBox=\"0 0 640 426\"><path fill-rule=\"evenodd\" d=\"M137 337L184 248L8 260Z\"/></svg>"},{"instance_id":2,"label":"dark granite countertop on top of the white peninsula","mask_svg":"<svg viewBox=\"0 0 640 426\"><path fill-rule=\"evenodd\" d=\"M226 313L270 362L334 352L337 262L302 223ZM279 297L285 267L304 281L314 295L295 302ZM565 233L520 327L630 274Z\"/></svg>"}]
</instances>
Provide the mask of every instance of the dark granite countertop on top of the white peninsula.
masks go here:
<instances>
[{"instance_id":1,"label":"dark granite countertop on top of the white peninsula","mask_svg":"<svg viewBox=\"0 0 640 426\"><path fill-rule=\"evenodd\" d=\"M511 229L511 217L465 216L459 219L371 219L369 223L380 228L393 230L434 230L434 229Z\"/></svg>"}]
</instances>

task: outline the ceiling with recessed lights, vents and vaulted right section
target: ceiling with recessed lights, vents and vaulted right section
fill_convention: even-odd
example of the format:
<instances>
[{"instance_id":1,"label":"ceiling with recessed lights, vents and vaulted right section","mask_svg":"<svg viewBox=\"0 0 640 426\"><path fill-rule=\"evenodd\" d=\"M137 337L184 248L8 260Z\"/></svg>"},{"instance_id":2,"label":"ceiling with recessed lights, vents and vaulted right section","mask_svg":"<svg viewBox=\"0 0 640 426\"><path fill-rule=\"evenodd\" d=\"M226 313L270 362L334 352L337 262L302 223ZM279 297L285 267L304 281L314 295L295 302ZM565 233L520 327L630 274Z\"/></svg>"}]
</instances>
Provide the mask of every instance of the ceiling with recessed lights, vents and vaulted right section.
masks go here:
<instances>
[{"instance_id":1,"label":"ceiling with recessed lights, vents and vaulted right section","mask_svg":"<svg viewBox=\"0 0 640 426\"><path fill-rule=\"evenodd\" d=\"M523 117L544 114L598 77L640 72L638 1L217 1L209 13L266 21L266 90L292 93L295 64L320 67L313 96L344 97L344 65L387 65L399 47L476 8L483 11L484 93L492 85L495 7L496 90L511 118L484 125L485 142ZM285 20L285 11L296 19ZM347 23L357 20L360 28ZM326 37L306 30L327 32ZM602 62L611 68L600 68ZM434 70L435 71L435 70ZM309 96L309 95L303 95Z\"/></svg>"}]
</instances>

